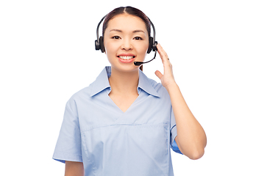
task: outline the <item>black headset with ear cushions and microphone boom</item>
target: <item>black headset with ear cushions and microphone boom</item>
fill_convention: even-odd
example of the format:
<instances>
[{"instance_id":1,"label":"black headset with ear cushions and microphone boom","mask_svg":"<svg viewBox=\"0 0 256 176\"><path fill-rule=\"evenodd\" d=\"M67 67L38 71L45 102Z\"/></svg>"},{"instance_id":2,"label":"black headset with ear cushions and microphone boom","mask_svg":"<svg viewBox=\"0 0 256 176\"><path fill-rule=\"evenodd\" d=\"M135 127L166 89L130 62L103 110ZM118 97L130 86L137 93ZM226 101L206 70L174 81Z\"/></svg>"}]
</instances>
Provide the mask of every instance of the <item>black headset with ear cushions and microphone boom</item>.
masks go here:
<instances>
[{"instance_id":1,"label":"black headset with ear cushions and microphone boom","mask_svg":"<svg viewBox=\"0 0 256 176\"><path fill-rule=\"evenodd\" d=\"M102 21L104 20L104 18L106 18L107 15L104 15L104 17L102 18L101 21L99 21L99 24L97 26L97 29L96 29L96 35L97 35L97 40L95 40L95 49L96 50L101 50L102 53L104 53L105 51L105 48L104 48L104 42L103 42L103 37L99 37L99 26L101 25ZM149 17L148 17L149 18ZM157 41L155 41L155 29L154 29L154 24L152 23L152 21L150 21L149 19L149 22L151 23L151 26L152 26L152 29L153 29L153 37L149 37L149 48L147 50L147 54L149 54L151 51L155 51L154 53L154 58L155 59L155 56L157 55ZM151 62L153 59L151 59L150 61L148 62ZM145 63L148 63L148 62L134 62L134 65L142 65L142 64L145 64Z\"/></svg>"}]
</instances>

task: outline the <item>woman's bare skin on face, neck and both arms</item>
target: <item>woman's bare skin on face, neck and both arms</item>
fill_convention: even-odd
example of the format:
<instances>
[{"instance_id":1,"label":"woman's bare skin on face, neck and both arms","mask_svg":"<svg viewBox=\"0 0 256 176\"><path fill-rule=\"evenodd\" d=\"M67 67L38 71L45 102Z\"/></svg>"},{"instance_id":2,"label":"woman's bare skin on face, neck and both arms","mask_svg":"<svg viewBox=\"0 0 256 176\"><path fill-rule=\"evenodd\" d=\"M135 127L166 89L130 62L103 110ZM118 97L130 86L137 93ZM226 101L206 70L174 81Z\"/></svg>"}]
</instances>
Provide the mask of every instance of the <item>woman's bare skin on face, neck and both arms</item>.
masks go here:
<instances>
[{"instance_id":1,"label":"woman's bare skin on face, neck and both arms","mask_svg":"<svg viewBox=\"0 0 256 176\"><path fill-rule=\"evenodd\" d=\"M133 62L120 62L118 56L133 54L136 61L143 62L149 46L149 34L145 23L141 18L126 13L115 16L109 21L104 33L104 46L112 69L109 78L112 90L109 96L121 111L127 111L138 98L139 67ZM171 98L177 124L175 141L184 155L191 159L199 159L205 153L205 131L185 103L174 80L171 62L160 44L157 45L157 52L162 59L164 73L157 70L155 74ZM84 175L82 163L66 161L65 176L71 175Z\"/></svg>"}]
</instances>

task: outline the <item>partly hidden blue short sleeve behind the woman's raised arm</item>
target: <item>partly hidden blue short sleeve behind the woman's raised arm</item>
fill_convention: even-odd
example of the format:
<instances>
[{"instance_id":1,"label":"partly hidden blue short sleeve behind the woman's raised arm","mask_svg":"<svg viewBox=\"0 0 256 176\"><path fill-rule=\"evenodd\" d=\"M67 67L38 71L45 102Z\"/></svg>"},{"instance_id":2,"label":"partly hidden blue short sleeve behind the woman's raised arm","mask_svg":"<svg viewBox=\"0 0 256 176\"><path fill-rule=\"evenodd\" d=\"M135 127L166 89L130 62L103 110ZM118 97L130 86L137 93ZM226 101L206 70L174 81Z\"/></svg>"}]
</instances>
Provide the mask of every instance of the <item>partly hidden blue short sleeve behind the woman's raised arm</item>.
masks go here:
<instances>
[{"instance_id":1,"label":"partly hidden blue short sleeve behind the woman's raised arm","mask_svg":"<svg viewBox=\"0 0 256 176\"><path fill-rule=\"evenodd\" d=\"M175 142L175 137L177 136L177 127L176 127L176 121L174 117L174 111L171 106L171 149L174 150L176 153L180 153L179 147L177 143Z\"/></svg>"}]
</instances>

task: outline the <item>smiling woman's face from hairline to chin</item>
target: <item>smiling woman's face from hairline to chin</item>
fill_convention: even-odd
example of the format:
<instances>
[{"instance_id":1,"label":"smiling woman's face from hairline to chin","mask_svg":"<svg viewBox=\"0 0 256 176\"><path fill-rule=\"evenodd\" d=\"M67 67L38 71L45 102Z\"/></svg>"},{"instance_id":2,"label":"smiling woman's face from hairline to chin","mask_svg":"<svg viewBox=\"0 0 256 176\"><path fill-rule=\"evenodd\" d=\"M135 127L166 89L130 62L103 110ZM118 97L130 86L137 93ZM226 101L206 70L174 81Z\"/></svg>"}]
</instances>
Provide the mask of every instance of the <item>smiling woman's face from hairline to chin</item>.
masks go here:
<instances>
[{"instance_id":1,"label":"smiling woman's face from hairline to chin","mask_svg":"<svg viewBox=\"0 0 256 176\"><path fill-rule=\"evenodd\" d=\"M138 70L133 62L143 62L149 47L146 24L134 15L116 15L104 32L104 47L112 69Z\"/></svg>"}]
</instances>

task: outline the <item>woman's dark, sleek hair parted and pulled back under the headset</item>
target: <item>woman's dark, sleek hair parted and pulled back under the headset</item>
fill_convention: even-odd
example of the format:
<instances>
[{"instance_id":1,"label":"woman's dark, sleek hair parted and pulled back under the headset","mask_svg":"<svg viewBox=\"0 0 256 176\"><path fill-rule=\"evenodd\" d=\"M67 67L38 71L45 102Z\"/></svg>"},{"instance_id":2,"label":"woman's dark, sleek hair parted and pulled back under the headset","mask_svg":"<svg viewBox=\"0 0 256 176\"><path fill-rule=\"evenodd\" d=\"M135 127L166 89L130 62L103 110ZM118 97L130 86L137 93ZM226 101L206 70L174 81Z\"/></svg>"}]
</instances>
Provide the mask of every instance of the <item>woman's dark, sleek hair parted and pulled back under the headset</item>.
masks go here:
<instances>
[{"instance_id":1,"label":"woman's dark, sleek hair parted and pulled back under the headset","mask_svg":"<svg viewBox=\"0 0 256 176\"><path fill-rule=\"evenodd\" d=\"M127 7L115 8L114 10L112 10L111 12L109 12L106 15L106 18L104 19L104 23L103 23L103 27L102 27L102 37L103 38L104 38L104 32L107 29L107 24L109 23L109 21L111 19L113 19L116 15L121 15L121 14L124 14L124 13L127 13L129 15L134 15L134 16L137 16L138 18L141 18L141 20L143 20L143 22L146 25L146 30L147 30L147 32L149 34L149 37L150 37L151 23L149 21L149 18L141 10L138 10L135 7L127 6ZM141 67L140 67L141 70L143 70L142 67L143 66L141 65Z\"/></svg>"}]
</instances>

